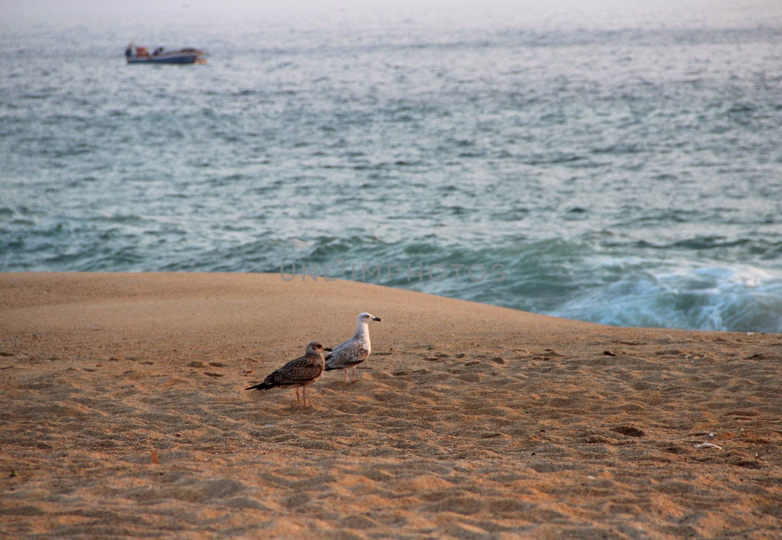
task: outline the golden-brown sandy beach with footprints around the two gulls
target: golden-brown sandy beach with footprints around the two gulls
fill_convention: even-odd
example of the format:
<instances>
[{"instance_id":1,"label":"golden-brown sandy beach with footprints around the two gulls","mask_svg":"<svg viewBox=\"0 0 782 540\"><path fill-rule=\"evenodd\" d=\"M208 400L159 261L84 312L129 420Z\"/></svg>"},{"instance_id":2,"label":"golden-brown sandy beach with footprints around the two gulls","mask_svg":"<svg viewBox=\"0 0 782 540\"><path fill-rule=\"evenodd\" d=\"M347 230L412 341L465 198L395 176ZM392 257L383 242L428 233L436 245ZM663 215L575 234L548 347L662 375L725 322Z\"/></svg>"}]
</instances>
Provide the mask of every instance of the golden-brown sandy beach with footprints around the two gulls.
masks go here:
<instances>
[{"instance_id":1,"label":"golden-brown sandy beach with footprints around the two gulls","mask_svg":"<svg viewBox=\"0 0 782 540\"><path fill-rule=\"evenodd\" d=\"M0 538L782 538L780 334L264 274L6 273L0 309ZM361 311L361 380L243 391Z\"/></svg>"}]
</instances>

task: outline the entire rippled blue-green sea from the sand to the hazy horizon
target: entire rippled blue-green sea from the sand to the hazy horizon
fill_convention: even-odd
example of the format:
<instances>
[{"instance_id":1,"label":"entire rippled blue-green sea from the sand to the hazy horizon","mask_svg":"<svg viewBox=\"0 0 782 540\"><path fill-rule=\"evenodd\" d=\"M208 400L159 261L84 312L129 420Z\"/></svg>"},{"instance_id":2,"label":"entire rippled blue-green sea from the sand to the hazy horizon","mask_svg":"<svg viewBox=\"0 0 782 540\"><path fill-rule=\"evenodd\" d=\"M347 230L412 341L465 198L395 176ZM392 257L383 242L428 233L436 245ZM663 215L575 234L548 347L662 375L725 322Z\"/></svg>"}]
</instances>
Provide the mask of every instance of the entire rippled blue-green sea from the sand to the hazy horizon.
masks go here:
<instances>
[{"instance_id":1,"label":"entire rippled blue-green sea from the sand to the hazy horizon","mask_svg":"<svg viewBox=\"0 0 782 540\"><path fill-rule=\"evenodd\" d=\"M782 4L734 4L13 13L0 270L345 259L574 319L780 332ZM209 63L126 66L131 38Z\"/></svg>"}]
</instances>

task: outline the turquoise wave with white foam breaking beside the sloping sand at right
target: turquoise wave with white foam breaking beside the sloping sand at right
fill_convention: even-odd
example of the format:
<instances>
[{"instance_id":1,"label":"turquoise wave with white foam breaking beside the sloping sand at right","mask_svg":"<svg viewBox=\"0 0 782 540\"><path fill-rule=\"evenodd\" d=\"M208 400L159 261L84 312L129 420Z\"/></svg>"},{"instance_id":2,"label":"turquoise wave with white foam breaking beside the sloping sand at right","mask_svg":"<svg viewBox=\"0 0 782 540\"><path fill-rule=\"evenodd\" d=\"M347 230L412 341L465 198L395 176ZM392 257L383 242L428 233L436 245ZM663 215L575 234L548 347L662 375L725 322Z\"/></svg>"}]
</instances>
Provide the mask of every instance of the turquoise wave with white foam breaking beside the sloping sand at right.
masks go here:
<instances>
[{"instance_id":1,"label":"turquoise wave with white foam breaking beside the sloping sand at right","mask_svg":"<svg viewBox=\"0 0 782 540\"><path fill-rule=\"evenodd\" d=\"M614 326L782 332L782 272L751 265L687 266L563 239L482 250L436 237L404 248L375 239L371 250L357 247L360 237L324 240L328 249L310 246L314 257L300 261L310 272L319 264L346 279L369 275L370 283ZM339 275L336 256L352 274ZM494 265L504 279L490 279ZM379 274L369 273L375 266ZM486 272L484 279L472 279L471 266L477 276ZM285 272L291 268L285 265Z\"/></svg>"}]
</instances>

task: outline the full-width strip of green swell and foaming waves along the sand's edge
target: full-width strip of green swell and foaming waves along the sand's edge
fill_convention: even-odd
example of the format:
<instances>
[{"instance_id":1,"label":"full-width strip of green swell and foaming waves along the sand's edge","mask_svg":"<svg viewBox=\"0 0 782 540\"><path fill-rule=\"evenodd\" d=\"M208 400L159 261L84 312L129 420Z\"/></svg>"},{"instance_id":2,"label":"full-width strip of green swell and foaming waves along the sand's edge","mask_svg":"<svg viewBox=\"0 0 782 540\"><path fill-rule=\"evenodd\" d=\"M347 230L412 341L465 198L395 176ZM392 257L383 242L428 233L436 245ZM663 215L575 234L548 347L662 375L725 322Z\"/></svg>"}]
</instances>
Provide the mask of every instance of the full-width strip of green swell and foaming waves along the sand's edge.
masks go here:
<instances>
[{"instance_id":1,"label":"full-width strip of green swell and foaming waves along the sand's edge","mask_svg":"<svg viewBox=\"0 0 782 540\"><path fill-rule=\"evenodd\" d=\"M141 220L111 214L92 221L105 225L77 228L49 221L35 236L0 230L0 254L9 262L22 254L5 268L13 270L314 273L613 326L782 332L782 269L694 260L686 242L678 256L672 247L656 257L658 249L632 242L518 236L467 247L435 234L405 242L359 229L283 237L234 224L199 249L182 242L185 229Z\"/></svg>"}]
</instances>

